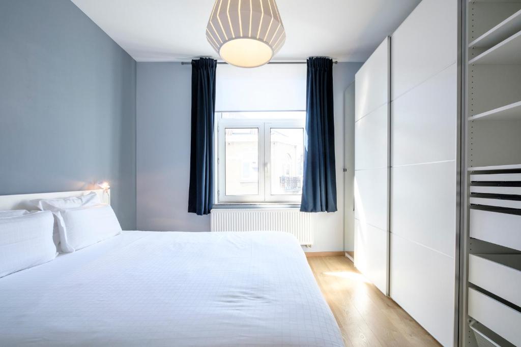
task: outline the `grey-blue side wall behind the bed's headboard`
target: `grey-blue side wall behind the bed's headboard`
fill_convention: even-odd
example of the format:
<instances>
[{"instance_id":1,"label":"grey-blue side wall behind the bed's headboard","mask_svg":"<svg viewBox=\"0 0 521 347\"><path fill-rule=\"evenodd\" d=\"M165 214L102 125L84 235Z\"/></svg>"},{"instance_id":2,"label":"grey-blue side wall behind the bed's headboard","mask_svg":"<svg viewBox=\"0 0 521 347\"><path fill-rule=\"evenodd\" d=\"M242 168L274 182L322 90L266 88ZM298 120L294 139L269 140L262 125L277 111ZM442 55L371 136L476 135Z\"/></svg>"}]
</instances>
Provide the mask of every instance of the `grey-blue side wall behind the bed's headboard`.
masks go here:
<instances>
[{"instance_id":1,"label":"grey-blue side wall behind the bed's headboard","mask_svg":"<svg viewBox=\"0 0 521 347\"><path fill-rule=\"evenodd\" d=\"M0 1L0 195L106 180L135 228L136 62L69 0Z\"/></svg>"}]
</instances>

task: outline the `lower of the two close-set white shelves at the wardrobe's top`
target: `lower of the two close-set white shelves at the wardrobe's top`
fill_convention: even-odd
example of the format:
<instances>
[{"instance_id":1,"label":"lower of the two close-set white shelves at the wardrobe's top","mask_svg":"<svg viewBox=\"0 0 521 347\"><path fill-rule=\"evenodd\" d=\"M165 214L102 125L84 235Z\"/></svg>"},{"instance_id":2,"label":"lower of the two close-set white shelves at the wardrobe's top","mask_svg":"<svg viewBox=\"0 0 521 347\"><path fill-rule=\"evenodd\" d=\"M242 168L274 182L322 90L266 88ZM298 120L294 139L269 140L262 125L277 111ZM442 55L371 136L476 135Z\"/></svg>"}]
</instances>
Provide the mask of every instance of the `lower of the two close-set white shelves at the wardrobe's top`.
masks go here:
<instances>
[{"instance_id":1,"label":"lower of the two close-set white shelves at the wardrobe's top","mask_svg":"<svg viewBox=\"0 0 521 347\"><path fill-rule=\"evenodd\" d=\"M517 65L521 64L521 31L501 41L477 57L469 65Z\"/></svg>"}]
</instances>

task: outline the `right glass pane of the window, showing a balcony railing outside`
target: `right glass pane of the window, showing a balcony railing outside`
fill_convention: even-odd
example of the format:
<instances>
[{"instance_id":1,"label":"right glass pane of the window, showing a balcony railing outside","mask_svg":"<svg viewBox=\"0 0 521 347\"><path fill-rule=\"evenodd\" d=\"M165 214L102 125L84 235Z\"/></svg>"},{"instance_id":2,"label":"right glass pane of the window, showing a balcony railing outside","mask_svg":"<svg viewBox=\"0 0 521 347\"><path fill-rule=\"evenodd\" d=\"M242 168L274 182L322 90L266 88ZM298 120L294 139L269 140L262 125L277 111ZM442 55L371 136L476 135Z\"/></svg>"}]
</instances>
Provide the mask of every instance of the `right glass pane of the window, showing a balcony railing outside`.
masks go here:
<instances>
[{"instance_id":1,"label":"right glass pane of the window, showing a balcony railing outside","mask_svg":"<svg viewBox=\"0 0 521 347\"><path fill-rule=\"evenodd\" d=\"M271 195L302 194L304 129L271 128Z\"/></svg>"}]
</instances>

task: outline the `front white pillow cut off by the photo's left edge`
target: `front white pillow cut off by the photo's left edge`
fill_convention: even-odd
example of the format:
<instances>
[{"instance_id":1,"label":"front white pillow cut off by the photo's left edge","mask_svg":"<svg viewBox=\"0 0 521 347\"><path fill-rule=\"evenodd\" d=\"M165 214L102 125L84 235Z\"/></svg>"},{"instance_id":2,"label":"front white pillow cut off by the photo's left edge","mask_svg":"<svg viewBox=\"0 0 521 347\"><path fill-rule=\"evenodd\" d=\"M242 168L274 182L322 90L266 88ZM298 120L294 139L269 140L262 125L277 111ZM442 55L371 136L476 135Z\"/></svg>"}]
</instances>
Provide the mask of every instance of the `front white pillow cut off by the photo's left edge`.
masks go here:
<instances>
[{"instance_id":1,"label":"front white pillow cut off by the photo's left edge","mask_svg":"<svg viewBox=\"0 0 521 347\"><path fill-rule=\"evenodd\" d=\"M51 212L0 219L0 277L56 257Z\"/></svg>"}]
</instances>

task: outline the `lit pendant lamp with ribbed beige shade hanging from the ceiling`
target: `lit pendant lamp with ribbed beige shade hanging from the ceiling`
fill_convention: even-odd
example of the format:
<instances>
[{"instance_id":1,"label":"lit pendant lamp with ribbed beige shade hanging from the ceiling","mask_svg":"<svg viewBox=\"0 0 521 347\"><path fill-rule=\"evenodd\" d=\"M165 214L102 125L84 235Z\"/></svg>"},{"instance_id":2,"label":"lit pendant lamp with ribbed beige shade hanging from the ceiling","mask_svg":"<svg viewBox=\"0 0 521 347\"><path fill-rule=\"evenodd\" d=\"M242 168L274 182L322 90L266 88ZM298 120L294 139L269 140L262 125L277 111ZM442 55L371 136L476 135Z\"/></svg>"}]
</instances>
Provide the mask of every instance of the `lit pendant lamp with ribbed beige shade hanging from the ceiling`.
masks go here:
<instances>
[{"instance_id":1,"label":"lit pendant lamp with ribbed beige shade hanging from the ceiling","mask_svg":"<svg viewBox=\"0 0 521 347\"><path fill-rule=\"evenodd\" d=\"M286 32L275 0L216 0L206 38L222 60L255 68L273 58Z\"/></svg>"}]
</instances>

